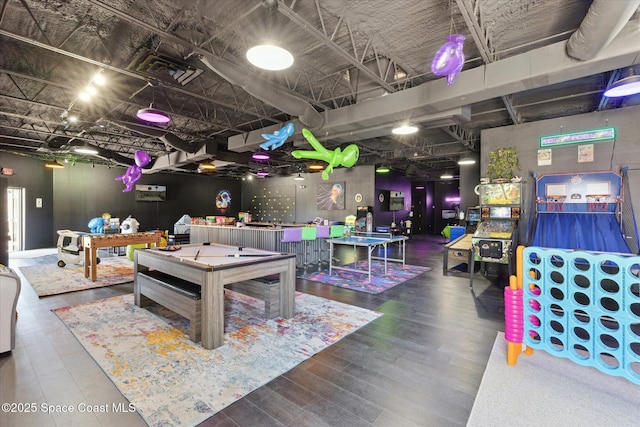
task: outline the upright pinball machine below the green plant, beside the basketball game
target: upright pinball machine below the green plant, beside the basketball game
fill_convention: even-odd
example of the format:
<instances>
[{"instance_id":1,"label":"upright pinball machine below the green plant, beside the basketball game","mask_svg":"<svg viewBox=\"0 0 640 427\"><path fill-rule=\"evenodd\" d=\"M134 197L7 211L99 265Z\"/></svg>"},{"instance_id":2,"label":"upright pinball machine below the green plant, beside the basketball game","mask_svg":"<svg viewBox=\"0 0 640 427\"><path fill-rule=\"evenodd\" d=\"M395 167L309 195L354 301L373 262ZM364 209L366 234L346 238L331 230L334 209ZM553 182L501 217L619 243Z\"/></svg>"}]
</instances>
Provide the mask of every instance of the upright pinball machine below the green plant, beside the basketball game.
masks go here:
<instances>
[{"instance_id":1,"label":"upright pinball machine below the green plant, beside the basketball game","mask_svg":"<svg viewBox=\"0 0 640 427\"><path fill-rule=\"evenodd\" d=\"M522 183L480 184L479 196L480 223L471 238L474 261L480 261L483 275L487 273L486 263L506 265L508 274L514 274Z\"/></svg>"}]
</instances>

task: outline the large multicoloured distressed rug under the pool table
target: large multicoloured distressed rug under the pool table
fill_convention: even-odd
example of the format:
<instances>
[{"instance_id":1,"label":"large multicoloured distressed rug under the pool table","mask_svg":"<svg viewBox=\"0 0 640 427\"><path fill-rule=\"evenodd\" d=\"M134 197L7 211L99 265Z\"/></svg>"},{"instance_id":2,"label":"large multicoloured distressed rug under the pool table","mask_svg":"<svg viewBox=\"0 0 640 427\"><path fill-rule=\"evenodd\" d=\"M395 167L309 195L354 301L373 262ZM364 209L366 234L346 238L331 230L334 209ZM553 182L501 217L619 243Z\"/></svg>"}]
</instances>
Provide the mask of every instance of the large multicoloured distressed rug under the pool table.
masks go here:
<instances>
[{"instance_id":1,"label":"large multicoloured distressed rug under the pool table","mask_svg":"<svg viewBox=\"0 0 640 427\"><path fill-rule=\"evenodd\" d=\"M55 309L122 394L153 426L193 426L382 313L296 293L292 319L225 290L224 345L189 340L189 321L133 294Z\"/></svg>"}]
</instances>

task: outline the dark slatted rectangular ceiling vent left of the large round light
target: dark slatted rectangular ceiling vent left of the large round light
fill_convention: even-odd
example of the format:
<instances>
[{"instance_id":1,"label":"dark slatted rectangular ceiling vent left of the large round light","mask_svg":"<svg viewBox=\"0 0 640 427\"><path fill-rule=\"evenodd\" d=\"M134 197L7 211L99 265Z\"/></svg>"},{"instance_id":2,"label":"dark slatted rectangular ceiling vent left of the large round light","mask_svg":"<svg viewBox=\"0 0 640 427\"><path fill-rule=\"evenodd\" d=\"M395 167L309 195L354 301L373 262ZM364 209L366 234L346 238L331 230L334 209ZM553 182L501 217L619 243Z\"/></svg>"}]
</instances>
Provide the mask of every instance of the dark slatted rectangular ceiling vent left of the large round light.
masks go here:
<instances>
[{"instance_id":1,"label":"dark slatted rectangular ceiling vent left of the large round light","mask_svg":"<svg viewBox=\"0 0 640 427\"><path fill-rule=\"evenodd\" d=\"M186 62L157 52L143 50L131 61L128 70L146 77L186 86L204 72Z\"/></svg>"}]
</instances>

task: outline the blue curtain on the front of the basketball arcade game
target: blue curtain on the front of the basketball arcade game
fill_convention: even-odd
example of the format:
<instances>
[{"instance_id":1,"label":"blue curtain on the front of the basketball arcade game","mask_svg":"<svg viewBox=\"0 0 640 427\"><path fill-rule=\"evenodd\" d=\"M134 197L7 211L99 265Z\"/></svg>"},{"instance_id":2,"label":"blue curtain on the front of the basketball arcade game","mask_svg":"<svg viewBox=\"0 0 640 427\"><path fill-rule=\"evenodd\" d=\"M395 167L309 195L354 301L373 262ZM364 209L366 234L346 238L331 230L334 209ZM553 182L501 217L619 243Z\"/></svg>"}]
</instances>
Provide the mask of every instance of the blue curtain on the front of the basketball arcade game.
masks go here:
<instances>
[{"instance_id":1,"label":"blue curtain on the front of the basketball arcade game","mask_svg":"<svg viewBox=\"0 0 640 427\"><path fill-rule=\"evenodd\" d=\"M631 253L614 214L538 214L532 246Z\"/></svg>"}]
</instances>

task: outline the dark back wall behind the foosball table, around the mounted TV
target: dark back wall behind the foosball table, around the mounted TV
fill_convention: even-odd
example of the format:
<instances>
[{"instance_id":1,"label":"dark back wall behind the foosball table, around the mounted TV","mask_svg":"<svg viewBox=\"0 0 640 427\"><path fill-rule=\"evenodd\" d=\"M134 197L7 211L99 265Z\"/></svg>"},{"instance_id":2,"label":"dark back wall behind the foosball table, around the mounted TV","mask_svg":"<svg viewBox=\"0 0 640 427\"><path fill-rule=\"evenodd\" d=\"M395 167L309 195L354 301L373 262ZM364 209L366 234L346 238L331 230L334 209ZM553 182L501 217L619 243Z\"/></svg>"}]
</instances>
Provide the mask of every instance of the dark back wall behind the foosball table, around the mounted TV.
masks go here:
<instances>
[{"instance_id":1,"label":"dark back wall behind the foosball table, around the mounted TV","mask_svg":"<svg viewBox=\"0 0 640 427\"><path fill-rule=\"evenodd\" d=\"M137 184L164 185L167 200L163 202L137 202L135 192L123 192L122 182L116 177L124 168L91 167L76 164L54 171L53 238L56 230L88 231L87 223L107 212L122 222L133 216L140 230L169 230L184 214L191 217L207 215L237 216L241 206L241 181L220 179L210 175L179 175L169 173L143 174ZM231 206L226 211L216 207L219 191L228 190Z\"/></svg>"}]
</instances>

